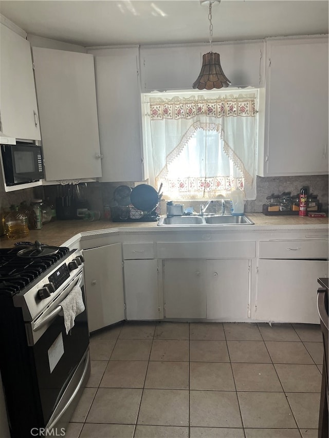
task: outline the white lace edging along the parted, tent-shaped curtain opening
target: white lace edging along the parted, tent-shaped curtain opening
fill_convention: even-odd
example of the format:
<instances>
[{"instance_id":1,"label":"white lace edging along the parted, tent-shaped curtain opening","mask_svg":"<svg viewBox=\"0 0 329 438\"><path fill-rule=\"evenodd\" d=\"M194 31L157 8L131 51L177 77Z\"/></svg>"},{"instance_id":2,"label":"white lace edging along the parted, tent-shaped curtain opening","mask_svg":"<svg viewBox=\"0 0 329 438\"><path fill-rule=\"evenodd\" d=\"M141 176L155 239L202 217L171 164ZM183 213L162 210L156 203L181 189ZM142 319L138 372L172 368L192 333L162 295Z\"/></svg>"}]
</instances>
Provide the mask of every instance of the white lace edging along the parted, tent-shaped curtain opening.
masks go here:
<instances>
[{"instance_id":1,"label":"white lace edging along the parted, tent-shaped curtain opening","mask_svg":"<svg viewBox=\"0 0 329 438\"><path fill-rule=\"evenodd\" d=\"M166 165L163 167L160 171L160 173L156 176L156 180L166 179L168 175L168 164L172 163L175 158L179 156L181 151L185 148L185 146L188 144L188 142L191 140L191 138L194 136L195 132L198 129L203 129L205 131L216 131L218 134L220 134L221 139L224 139L224 130L223 127L218 123L205 123L205 122L194 122L192 126L189 127L189 129L185 132L184 136L178 143L178 145L171 151L170 154L167 155L166 158ZM235 154L234 150L229 146L229 144L224 140L224 146L223 146L224 152L227 155L227 157L232 160L233 164L237 169L240 170L245 183L252 184L252 176L247 172L243 162L240 160L240 158Z\"/></svg>"}]
</instances>

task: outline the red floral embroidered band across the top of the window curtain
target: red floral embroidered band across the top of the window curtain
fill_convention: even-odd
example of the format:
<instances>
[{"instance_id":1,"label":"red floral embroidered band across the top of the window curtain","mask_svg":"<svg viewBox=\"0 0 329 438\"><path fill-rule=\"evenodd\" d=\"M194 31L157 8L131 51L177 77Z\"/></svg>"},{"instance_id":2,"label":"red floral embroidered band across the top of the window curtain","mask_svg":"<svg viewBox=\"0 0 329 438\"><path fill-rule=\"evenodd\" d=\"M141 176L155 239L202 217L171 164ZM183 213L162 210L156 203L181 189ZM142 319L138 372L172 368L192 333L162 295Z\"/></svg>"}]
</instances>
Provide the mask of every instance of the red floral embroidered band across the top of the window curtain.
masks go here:
<instances>
[{"instance_id":1,"label":"red floral embroidered band across the top of the window curtain","mask_svg":"<svg viewBox=\"0 0 329 438\"><path fill-rule=\"evenodd\" d=\"M150 99L151 120L163 119L192 119L204 115L207 117L254 117L254 98L232 99L173 99L167 101L152 102Z\"/></svg>"}]
</instances>

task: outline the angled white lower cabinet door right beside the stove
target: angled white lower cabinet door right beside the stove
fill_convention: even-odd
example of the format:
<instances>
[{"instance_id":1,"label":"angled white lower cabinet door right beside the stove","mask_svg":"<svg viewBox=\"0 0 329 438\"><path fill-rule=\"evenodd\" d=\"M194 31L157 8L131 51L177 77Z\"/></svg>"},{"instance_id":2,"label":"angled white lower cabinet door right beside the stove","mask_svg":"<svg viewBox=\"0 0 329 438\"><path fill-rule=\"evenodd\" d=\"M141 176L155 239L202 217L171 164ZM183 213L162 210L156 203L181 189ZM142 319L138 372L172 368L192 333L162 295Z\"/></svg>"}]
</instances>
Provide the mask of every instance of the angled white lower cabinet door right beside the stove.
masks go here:
<instances>
[{"instance_id":1,"label":"angled white lower cabinet door right beside the stove","mask_svg":"<svg viewBox=\"0 0 329 438\"><path fill-rule=\"evenodd\" d=\"M121 243L84 250L89 332L124 319Z\"/></svg>"}]
</instances>

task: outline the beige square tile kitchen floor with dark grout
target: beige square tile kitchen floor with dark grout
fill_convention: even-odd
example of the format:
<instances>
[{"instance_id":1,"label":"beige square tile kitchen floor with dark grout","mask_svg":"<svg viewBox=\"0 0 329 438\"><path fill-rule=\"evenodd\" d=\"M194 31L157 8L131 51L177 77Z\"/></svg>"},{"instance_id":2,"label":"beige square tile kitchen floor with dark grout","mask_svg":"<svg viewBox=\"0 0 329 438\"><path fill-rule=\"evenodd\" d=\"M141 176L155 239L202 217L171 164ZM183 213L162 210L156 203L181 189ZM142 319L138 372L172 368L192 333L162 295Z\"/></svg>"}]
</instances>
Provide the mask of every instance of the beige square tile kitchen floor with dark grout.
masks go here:
<instances>
[{"instance_id":1,"label":"beige square tile kitchen floor with dark grout","mask_svg":"<svg viewBox=\"0 0 329 438\"><path fill-rule=\"evenodd\" d=\"M90 337L67 438L317 437L320 326L129 323Z\"/></svg>"}]
</instances>

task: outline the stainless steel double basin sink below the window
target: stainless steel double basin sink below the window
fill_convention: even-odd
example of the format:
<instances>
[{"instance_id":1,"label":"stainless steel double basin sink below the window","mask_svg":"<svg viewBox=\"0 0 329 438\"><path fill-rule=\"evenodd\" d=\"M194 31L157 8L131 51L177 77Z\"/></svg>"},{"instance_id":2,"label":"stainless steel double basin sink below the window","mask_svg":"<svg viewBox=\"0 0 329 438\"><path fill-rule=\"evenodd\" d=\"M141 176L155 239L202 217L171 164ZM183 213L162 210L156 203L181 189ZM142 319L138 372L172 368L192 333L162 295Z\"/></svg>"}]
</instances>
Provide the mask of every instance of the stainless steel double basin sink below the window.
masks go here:
<instances>
[{"instance_id":1,"label":"stainless steel double basin sink below the window","mask_svg":"<svg viewBox=\"0 0 329 438\"><path fill-rule=\"evenodd\" d=\"M159 226L190 225L253 225L247 216L211 215L211 216L165 216L158 222Z\"/></svg>"}]
</instances>

